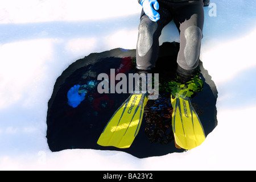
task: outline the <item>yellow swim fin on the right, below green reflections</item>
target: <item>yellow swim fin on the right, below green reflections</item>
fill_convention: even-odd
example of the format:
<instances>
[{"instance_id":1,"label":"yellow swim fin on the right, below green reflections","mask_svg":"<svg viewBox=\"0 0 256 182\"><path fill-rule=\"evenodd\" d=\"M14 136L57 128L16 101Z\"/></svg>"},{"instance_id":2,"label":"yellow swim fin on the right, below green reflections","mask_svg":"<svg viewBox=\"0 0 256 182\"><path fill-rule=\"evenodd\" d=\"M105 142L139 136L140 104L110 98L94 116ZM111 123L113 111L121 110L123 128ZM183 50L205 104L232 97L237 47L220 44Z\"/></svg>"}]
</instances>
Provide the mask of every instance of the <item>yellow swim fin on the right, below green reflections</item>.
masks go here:
<instances>
[{"instance_id":1,"label":"yellow swim fin on the right, below green reflections","mask_svg":"<svg viewBox=\"0 0 256 182\"><path fill-rule=\"evenodd\" d=\"M186 150L191 150L202 144L205 134L200 119L191 105L188 97L171 97L172 102L172 130L175 143Z\"/></svg>"}]
</instances>

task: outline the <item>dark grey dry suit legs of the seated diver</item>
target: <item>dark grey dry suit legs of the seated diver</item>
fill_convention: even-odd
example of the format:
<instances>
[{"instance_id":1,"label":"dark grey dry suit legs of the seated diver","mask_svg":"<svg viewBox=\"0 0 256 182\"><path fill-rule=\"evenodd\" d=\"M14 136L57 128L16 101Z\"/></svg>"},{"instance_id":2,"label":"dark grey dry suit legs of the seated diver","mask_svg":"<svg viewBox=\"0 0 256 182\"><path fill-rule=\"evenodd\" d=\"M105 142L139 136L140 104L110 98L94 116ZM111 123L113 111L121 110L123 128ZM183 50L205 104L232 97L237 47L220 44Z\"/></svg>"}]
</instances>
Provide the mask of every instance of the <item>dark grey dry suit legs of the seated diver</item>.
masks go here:
<instances>
[{"instance_id":1,"label":"dark grey dry suit legs of the seated diver","mask_svg":"<svg viewBox=\"0 0 256 182\"><path fill-rule=\"evenodd\" d=\"M139 0L140 3L141 0ZM209 0L158 0L160 19L153 22L142 10L137 42L137 68L150 70L155 67L159 52L159 36L171 20L180 33L179 67L192 71L199 64L203 38L204 5Z\"/></svg>"}]
</instances>

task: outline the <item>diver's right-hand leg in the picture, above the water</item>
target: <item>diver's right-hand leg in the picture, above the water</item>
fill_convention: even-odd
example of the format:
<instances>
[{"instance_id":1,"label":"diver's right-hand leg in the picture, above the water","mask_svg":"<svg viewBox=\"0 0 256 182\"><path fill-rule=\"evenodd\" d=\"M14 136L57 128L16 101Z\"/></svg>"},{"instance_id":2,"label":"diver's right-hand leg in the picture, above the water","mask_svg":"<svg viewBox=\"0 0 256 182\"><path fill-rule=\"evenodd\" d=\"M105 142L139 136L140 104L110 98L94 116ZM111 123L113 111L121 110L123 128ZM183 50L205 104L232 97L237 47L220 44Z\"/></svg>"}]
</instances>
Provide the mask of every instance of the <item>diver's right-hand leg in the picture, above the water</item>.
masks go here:
<instances>
[{"instance_id":1,"label":"diver's right-hand leg in the picture, above the water","mask_svg":"<svg viewBox=\"0 0 256 182\"><path fill-rule=\"evenodd\" d=\"M201 39L203 38L204 9L202 1L184 3L177 9L174 21L180 31L179 67L192 71L199 64Z\"/></svg>"}]
</instances>

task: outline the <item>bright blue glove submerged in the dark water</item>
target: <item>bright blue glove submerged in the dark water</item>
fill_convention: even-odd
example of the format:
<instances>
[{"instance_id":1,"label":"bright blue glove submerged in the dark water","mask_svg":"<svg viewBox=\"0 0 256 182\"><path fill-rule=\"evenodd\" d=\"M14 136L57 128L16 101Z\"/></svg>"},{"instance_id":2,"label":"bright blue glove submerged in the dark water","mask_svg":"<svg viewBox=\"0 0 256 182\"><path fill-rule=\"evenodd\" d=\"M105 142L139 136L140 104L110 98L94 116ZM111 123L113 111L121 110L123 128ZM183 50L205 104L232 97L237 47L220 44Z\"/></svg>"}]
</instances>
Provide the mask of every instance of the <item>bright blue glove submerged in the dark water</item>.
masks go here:
<instances>
[{"instance_id":1,"label":"bright blue glove submerged in the dark water","mask_svg":"<svg viewBox=\"0 0 256 182\"><path fill-rule=\"evenodd\" d=\"M78 93L80 86L75 85L68 90L68 105L77 107L85 99L85 93Z\"/></svg>"}]
</instances>

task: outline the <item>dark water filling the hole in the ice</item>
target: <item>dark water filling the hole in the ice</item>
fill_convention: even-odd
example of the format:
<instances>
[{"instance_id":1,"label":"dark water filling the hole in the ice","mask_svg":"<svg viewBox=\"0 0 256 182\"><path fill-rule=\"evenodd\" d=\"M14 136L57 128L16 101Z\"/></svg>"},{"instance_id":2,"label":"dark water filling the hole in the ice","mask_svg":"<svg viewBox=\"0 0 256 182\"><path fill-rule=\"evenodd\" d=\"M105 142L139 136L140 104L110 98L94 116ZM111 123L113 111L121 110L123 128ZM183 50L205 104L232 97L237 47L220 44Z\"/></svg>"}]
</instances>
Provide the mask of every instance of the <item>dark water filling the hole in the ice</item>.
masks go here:
<instances>
[{"instance_id":1,"label":"dark water filling the hole in the ice","mask_svg":"<svg viewBox=\"0 0 256 182\"><path fill-rule=\"evenodd\" d=\"M115 110L129 97L127 94L99 94L97 76L110 69L115 74L135 73L135 50L113 49L93 53L77 60L57 78L52 97L48 103L47 141L51 151L72 148L124 151L138 158L161 156L172 152L183 152L174 144L171 126L172 106L170 89L166 81L176 77L177 43L164 43L160 47L155 73L159 73L160 92L158 100L149 100L144 110L141 129L130 148L102 147L98 137ZM203 80L203 91L193 95L191 102L208 135L217 125L217 90L208 72L200 62L199 76ZM85 100L75 108L67 104L67 93L74 85L89 85Z\"/></svg>"}]
</instances>

